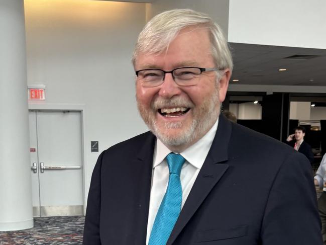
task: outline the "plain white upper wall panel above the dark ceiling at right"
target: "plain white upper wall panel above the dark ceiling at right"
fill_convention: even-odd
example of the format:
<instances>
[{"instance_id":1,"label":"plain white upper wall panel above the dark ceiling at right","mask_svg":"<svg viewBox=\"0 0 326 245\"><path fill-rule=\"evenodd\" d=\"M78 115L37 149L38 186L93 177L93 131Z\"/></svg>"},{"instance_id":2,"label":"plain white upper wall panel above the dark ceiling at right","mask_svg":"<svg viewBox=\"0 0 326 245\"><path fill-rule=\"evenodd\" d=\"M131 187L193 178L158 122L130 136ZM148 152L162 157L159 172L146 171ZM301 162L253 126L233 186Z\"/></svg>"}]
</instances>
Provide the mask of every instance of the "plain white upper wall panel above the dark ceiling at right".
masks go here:
<instances>
[{"instance_id":1,"label":"plain white upper wall panel above the dark ceiling at right","mask_svg":"<svg viewBox=\"0 0 326 245\"><path fill-rule=\"evenodd\" d=\"M230 0L229 42L326 49L326 1Z\"/></svg>"}]
</instances>

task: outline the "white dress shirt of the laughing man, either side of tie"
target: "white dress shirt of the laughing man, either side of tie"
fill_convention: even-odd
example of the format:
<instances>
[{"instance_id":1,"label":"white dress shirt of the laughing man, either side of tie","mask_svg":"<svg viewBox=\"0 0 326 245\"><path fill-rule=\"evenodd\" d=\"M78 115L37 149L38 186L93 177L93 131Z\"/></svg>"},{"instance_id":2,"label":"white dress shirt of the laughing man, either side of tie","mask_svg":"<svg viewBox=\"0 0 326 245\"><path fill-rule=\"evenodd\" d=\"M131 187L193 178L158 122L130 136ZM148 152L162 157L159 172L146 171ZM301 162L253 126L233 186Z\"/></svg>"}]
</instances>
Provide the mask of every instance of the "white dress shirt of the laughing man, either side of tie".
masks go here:
<instances>
[{"instance_id":1,"label":"white dress shirt of the laughing man, either side of tie","mask_svg":"<svg viewBox=\"0 0 326 245\"><path fill-rule=\"evenodd\" d=\"M193 145L191 145L180 153L185 158L185 162L182 166L180 173L180 181L182 187L181 209L185 201L187 200L190 190L208 154L216 130L218 129L218 124L219 119L216 120L211 129L201 139L199 139L196 143L194 143ZM157 211L161 205L161 202L167 189L169 181L169 167L167 165L165 157L169 153L171 153L171 150L169 150L161 142L161 140L157 139L153 157L152 184L149 203L146 244L148 244Z\"/></svg>"}]
</instances>

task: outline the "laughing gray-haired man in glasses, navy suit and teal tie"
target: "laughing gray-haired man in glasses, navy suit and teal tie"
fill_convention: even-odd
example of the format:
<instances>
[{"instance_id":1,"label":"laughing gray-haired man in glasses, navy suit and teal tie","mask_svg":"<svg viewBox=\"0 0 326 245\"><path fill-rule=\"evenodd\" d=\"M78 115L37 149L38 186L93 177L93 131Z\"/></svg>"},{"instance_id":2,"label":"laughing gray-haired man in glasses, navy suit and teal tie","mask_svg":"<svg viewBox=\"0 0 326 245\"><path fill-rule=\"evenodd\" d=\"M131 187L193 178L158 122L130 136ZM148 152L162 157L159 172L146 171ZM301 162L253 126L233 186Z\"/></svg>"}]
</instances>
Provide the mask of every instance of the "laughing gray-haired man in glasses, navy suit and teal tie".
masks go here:
<instances>
[{"instance_id":1,"label":"laughing gray-haired man in glasses, navy suit and teal tie","mask_svg":"<svg viewBox=\"0 0 326 245\"><path fill-rule=\"evenodd\" d=\"M322 244L307 159L220 115L233 64L218 25L161 13L133 64L150 132L100 154L85 245Z\"/></svg>"}]
</instances>

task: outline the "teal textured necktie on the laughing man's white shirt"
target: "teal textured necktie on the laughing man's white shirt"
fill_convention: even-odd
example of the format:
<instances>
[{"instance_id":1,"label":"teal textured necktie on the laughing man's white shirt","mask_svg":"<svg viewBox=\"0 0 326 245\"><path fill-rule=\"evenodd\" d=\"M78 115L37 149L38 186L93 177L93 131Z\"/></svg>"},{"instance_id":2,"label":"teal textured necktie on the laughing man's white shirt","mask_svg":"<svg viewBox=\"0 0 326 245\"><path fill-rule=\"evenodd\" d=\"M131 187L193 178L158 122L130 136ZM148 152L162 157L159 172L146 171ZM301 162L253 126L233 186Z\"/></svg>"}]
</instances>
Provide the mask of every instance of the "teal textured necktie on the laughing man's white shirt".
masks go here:
<instances>
[{"instance_id":1,"label":"teal textured necktie on the laughing man's white shirt","mask_svg":"<svg viewBox=\"0 0 326 245\"><path fill-rule=\"evenodd\" d=\"M169 184L153 224L149 245L165 245L177 221L182 202L180 172L185 159L180 154L166 156L169 166Z\"/></svg>"}]
</instances>

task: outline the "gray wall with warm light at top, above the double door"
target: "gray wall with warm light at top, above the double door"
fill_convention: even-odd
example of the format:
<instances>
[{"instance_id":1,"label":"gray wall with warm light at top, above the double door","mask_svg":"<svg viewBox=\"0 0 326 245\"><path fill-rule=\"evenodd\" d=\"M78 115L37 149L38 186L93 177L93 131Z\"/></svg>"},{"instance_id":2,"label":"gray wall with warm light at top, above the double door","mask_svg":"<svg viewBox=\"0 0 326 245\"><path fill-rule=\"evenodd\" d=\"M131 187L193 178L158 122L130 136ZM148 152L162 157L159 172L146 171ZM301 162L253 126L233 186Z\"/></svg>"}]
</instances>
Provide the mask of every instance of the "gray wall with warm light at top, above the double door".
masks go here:
<instances>
[{"instance_id":1,"label":"gray wall with warm light at top, above the double door","mask_svg":"<svg viewBox=\"0 0 326 245\"><path fill-rule=\"evenodd\" d=\"M46 86L46 101L30 101L30 108L85 109L87 196L100 151L147 130L130 61L145 4L26 0L25 15L28 84ZM91 140L99 141L98 153L90 152Z\"/></svg>"}]
</instances>

